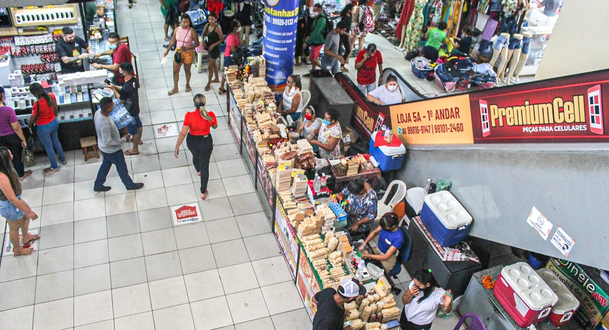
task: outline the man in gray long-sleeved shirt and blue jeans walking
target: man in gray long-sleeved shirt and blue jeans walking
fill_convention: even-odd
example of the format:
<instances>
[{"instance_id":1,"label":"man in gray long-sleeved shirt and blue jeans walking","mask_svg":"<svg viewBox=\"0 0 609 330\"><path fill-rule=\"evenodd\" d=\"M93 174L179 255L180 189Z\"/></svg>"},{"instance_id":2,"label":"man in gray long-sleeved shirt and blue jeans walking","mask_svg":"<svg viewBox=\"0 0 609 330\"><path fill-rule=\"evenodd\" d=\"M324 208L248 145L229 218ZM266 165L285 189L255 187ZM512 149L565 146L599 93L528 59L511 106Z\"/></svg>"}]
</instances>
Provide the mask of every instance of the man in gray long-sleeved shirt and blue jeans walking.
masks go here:
<instances>
[{"instance_id":1,"label":"man in gray long-sleeved shirt and blue jeans walking","mask_svg":"<svg viewBox=\"0 0 609 330\"><path fill-rule=\"evenodd\" d=\"M110 97L104 97L99 101L100 110L95 113L93 121L95 122L95 130L97 131L97 147L99 147L104 160L102 166L97 171L97 178L93 190L109 191L112 187L104 186L108 172L112 164L116 166L116 171L121 178L122 183L125 185L127 190L137 190L144 186L143 183L133 183L129 176L129 170L127 169L127 163L125 163L125 155L122 153L121 145L125 143L130 136L125 134L121 138L121 133L118 132L118 128L114 124L110 113L114 109L114 102Z\"/></svg>"}]
</instances>

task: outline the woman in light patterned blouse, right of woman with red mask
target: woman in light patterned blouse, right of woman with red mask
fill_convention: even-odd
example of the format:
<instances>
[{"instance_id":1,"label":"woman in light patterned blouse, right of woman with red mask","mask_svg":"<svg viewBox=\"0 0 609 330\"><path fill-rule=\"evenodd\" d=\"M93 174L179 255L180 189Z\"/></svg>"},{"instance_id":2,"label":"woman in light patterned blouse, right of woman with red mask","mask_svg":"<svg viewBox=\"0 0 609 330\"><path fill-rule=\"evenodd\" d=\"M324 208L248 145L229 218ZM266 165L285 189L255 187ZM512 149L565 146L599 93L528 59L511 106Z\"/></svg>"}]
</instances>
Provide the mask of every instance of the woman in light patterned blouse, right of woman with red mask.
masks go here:
<instances>
[{"instance_id":1,"label":"woman in light patterned blouse, right of woman with red mask","mask_svg":"<svg viewBox=\"0 0 609 330\"><path fill-rule=\"evenodd\" d=\"M319 155L326 160L342 156L339 146L339 141L342 139L339 116L339 111L329 108L319 128L317 140L307 138L311 146L319 147Z\"/></svg>"}]
</instances>

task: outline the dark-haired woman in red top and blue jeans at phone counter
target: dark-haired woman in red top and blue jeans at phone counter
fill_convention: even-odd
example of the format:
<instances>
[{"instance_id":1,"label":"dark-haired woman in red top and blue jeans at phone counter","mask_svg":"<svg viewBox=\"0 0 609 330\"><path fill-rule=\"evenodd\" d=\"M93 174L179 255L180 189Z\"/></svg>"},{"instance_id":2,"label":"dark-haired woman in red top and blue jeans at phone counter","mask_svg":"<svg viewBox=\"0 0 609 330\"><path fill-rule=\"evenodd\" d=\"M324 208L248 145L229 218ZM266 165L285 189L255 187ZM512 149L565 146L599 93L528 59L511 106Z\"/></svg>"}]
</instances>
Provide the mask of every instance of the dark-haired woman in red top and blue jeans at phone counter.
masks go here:
<instances>
[{"instance_id":1,"label":"dark-haired woman in red top and blue jeans at phone counter","mask_svg":"<svg viewBox=\"0 0 609 330\"><path fill-rule=\"evenodd\" d=\"M59 161L63 165L67 165L66 156L63 155L62 144L57 138L57 128L59 122L57 122L57 99L53 93L46 93L40 83L32 83L30 85L30 93L35 96L38 101L34 102L32 108L32 116L30 117L29 128L32 131L32 125L36 124L36 135L40 139L46 150L46 155L49 156L51 161L51 167L44 169L44 173L57 172L59 166L57 165L57 157L55 152L59 156Z\"/></svg>"}]
</instances>

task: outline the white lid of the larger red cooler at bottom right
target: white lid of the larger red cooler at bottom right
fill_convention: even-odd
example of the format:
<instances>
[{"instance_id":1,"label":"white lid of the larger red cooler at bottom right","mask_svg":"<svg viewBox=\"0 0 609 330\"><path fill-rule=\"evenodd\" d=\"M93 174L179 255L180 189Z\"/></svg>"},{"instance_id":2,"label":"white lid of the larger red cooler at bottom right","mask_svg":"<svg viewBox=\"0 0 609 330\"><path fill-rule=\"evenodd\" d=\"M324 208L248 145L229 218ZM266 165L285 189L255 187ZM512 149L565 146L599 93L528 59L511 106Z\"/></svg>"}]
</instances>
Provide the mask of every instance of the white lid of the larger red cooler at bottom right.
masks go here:
<instances>
[{"instance_id":1,"label":"white lid of the larger red cooler at bottom right","mask_svg":"<svg viewBox=\"0 0 609 330\"><path fill-rule=\"evenodd\" d=\"M556 304L558 297L526 262L503 267L501 275L524 303L539 310Z\"/></svg>"}]
</instances>

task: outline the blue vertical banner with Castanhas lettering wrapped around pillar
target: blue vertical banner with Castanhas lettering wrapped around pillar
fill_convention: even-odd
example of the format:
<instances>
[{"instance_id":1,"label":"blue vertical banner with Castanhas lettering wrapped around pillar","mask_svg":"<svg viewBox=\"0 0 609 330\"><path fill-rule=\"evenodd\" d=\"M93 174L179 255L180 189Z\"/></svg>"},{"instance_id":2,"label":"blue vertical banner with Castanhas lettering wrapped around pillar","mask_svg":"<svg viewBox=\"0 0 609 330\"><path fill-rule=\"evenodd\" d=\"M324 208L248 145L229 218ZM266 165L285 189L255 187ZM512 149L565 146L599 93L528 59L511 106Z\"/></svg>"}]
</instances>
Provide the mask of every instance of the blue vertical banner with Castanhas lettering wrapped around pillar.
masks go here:
<instances>
[{"instance_id":1,"label":"blue vertical banner with Castanhas lettering wrapped around pillar","mask_svg":"<svg viewBox=\"0 0 609 330\"><path fill-rule=\"evenodd\" d=\"M266 81L272 90L283 90L294 72L298 0L264 0L264 58Z\"/></svg>"}]
</instances>

